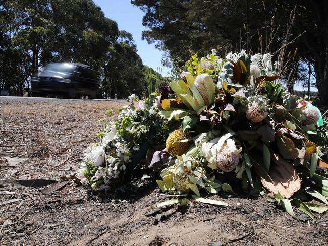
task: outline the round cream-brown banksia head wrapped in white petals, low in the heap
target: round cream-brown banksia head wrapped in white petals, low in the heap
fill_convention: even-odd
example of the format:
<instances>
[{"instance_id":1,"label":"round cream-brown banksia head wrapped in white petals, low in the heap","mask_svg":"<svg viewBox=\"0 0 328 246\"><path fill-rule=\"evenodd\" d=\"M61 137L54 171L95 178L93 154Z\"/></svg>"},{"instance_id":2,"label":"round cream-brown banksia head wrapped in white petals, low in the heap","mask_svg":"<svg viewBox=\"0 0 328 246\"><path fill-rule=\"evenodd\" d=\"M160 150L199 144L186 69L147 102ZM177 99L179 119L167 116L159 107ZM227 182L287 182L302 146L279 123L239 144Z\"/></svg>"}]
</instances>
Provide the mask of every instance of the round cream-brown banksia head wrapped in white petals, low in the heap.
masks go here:
<instances>
[{"instance_id":1,"label":"round cream-brown banksia head wrapped in white petals, low in the heap","mask_svg":"<svg viewBox=\"0 0 328 246\"><path fill-rule=\"evenodd\" d=\"M237 149L235 141L228 139L222 146L214 145L211 149L213 162L217 169L224 172L230 172L235 169L239 163L241 148Z\"/></svg>"}]
</instances>

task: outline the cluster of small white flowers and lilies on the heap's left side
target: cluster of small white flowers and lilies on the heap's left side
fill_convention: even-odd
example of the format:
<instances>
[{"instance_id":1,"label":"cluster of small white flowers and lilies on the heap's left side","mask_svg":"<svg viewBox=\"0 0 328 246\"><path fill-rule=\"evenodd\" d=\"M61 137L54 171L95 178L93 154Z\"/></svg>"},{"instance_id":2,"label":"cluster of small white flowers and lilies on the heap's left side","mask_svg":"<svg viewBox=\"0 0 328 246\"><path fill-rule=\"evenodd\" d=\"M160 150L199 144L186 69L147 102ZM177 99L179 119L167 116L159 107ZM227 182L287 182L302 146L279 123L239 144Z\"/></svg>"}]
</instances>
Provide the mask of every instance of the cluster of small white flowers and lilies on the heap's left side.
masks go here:
<instances>
[{"instance_id":1,"label":"cluster of small white flowers and lilies on the heap's left side","mask_svg":"<svg viewBox=\"0 0 328 246\"><path fill-rule=\"evenodd\" d=\"M84 155L77 176L81 183L89 182L95 190L109 189L112 180L126 170L126 165L132 162L133 154L140 148L138 138L147 133L141 122L149 120L149 115L157 115L156 100L150 109L145 100L138 101L135 95L129 96L129 101L131 105L122 107L117 122L108 122L99 142L91 144ZM134 101L137 105L133 104ZM156 117L153 119L156 120Z\"/></svg>"}]
</instances>

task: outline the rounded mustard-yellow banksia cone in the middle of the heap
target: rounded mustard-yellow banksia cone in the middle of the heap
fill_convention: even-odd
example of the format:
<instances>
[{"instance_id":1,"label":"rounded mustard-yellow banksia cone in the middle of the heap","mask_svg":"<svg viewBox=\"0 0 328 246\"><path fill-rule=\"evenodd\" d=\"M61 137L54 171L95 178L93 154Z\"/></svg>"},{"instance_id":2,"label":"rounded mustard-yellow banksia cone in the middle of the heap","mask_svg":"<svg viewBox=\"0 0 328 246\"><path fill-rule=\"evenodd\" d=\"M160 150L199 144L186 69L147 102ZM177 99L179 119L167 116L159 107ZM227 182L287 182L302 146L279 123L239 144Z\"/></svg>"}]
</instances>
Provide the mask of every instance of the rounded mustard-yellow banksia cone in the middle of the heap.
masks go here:
<instances>
[{"instance_id":1,"label":"rounded mustard-yellow banksia cone in the middle of the heap","mask_svg":"<svg viewBox=\"0 0 328 246\"><path fill-rule=\"evenodd\" d=\"M171 155L182 155L190 146L191 141L180 142L188 139L189 134L183 133L181 129L173 131L166 141L166 147Z\"/></svg>"}]
</instances>

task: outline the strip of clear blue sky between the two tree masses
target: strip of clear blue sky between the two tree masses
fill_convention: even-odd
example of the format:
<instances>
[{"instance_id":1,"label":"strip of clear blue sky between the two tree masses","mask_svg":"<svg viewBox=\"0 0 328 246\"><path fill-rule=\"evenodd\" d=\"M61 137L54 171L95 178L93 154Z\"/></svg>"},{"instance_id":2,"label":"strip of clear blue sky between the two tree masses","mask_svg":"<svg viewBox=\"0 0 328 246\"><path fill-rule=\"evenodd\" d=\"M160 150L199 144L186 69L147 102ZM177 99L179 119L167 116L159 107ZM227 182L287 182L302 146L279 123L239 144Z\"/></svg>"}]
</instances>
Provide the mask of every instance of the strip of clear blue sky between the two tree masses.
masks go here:
<instances>
[{"instance_id":1,"label":"strip of clear blue sky between the two tree masses","mask_svg":"<svg viewBox=\"0 0 328 246\"><path fill-rule=\"evenodd\" d=\"M156 49L154 44L148 44L146 40L141 39L142 31L146 30L142 25L144 16L142 10L133 6L130 0L94 0L93 2L100 6L107 18L117 22L119 30L125 30L133 35L144 65L151 66L154 70L160 68L163 76L168 75L170 68L161 65L163 52Z\"/></svg>"}]
</instances>

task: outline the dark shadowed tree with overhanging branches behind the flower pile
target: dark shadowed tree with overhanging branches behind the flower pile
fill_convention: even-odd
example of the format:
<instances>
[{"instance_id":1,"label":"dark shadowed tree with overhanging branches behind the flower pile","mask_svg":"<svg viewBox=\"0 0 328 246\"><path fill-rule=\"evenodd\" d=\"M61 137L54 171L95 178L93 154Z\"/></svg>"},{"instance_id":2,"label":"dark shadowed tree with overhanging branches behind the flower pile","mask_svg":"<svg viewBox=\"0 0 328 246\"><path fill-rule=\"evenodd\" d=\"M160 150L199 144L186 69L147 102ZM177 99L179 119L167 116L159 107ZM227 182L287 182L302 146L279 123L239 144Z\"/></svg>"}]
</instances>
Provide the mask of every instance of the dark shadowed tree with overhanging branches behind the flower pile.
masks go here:
<instances>
[{"instance_id":1,"label":"dark shadowed tree with overhanging branches behind the flower pile","mask_svg":"<svg viewBox=\"0 0 328 246\"><path fill-rule=\"evenodd\" d=\"M256 53L281 51L284 47L282 61L288 61L290 66L282 72L290 91L299 60L310 60L321 101L328 104L327 1L132 0L131 3L145 12L143 25L149 30L143 31L142 37L165 51L164 61L171 60L173 66L183 65L190 54L209 53L211 48L224 55L227 50L241 48ZM280 58L277 52L274 59Z\"/></svg>"}]
</instances>

